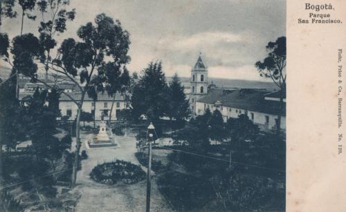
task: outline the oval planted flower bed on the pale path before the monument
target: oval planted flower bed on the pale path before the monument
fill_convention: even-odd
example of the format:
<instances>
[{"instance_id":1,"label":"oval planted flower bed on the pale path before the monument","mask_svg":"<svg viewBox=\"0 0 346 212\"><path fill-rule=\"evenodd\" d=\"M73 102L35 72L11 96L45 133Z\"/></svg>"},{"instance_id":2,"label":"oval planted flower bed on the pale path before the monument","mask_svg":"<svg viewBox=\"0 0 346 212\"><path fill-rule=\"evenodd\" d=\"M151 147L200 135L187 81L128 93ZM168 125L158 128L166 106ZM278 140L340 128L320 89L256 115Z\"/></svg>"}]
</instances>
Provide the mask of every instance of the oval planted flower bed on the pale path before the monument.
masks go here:
<instances>
[{"instance_id":1,"label":"oval planted flower bed on the pale path before the monument","mask_svg":"<svg viewBox=\"0 0 346 212\"><path fill-rule=\"evenodd\" d=\"M95 166L90 173L91 179L102 184L116 184L119 181L125 184L134 184L145 179L145 171L135 164L116 160Z\"/></svg>"}]
</instances>

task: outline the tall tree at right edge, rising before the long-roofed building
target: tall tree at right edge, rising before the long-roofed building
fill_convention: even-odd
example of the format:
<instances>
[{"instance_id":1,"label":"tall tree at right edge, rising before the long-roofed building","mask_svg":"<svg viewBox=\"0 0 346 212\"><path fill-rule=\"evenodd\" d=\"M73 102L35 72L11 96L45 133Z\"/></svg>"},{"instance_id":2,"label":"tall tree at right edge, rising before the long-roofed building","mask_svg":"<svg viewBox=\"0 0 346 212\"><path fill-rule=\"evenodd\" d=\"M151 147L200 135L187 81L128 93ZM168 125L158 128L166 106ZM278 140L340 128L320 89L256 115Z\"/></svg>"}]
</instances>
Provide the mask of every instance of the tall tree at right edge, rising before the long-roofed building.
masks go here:
<instances>
[{"instance_id":1,"label":"tall tree at right edge, rising before the long-roofed building","mask_svg":"<svg viewBox=\"0 0 346 212\"><path fill-rule=\"evenodd\" d=\"M255 66L261 77L267 77L277 85L280 95L279 114L277 115L276 131L280 134L281 116L286 93L286 37L279 37L266 46L268 56L264 61L257 61Z\"/></svg>"}]
</instances>

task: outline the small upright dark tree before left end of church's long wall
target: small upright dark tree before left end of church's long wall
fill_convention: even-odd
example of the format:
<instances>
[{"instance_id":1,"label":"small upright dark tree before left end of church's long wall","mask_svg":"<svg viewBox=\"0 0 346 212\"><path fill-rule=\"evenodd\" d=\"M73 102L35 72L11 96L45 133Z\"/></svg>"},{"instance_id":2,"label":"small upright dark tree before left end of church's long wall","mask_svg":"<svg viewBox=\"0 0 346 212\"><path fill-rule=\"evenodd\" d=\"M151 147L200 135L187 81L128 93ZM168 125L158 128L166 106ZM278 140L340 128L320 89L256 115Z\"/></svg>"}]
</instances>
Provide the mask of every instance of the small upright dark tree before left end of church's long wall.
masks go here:
<instances>
[{"instance_id":1,"label":"small upright dark tree before left end of church's long wall","mask_svg":"<svg viewBox=\"0 0 346 212\"><path fill-rule=\"evenodd\" d=\"M226 130L224 127L224 119L219 110L214 110L209 122L210 138L217 142L221 142L226 137Z\"/></svg>"}]
</instances>

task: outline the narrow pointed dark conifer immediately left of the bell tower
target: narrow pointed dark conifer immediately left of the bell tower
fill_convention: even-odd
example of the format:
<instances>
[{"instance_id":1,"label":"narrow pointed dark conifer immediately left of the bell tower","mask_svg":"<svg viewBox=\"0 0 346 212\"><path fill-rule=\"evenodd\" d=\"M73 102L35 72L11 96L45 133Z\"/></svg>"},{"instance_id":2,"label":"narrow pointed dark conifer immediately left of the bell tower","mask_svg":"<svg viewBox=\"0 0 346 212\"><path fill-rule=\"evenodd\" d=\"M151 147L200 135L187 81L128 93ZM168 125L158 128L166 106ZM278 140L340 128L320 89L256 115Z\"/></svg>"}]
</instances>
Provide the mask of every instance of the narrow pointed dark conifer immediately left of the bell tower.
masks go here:
<instances>
[{"instance_id":1,"label":"narrow pointed dark conifer immediately left of the bell tower","mask_svg":"<svg viewBox=\"0 0 346 212\"><path fill-rule=\"evenodd\" d=\"M168 90L170 119L174 118L181 121L190 116L190 104L184 93L184 87L181 86L181 81L177 74L174 75Z\"/></svg>"}]
</instances>

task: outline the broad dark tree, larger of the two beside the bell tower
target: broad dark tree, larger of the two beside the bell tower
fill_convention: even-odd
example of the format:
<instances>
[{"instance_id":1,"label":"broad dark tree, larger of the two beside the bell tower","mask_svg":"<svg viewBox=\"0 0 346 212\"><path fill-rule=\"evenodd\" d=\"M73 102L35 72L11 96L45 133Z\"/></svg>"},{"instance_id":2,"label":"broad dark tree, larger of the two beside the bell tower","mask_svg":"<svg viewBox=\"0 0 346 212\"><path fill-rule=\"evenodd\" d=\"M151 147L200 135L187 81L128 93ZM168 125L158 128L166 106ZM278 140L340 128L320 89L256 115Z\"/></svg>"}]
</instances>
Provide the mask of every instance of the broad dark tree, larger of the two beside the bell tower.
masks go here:
<instances>
[{"instance_id":1,"label":"broad dark tree, larger of the two beside the bell tower","mask_svg":"<svg viewBox=\"0 0 346 212\"><path fill-rule=\"evenodd\" d=\"M143 70L131 97L132 113L136 118L147 115L155 122L167 114L167 83L161 61L151 62Z\"/></svg>"}]
</instances>

